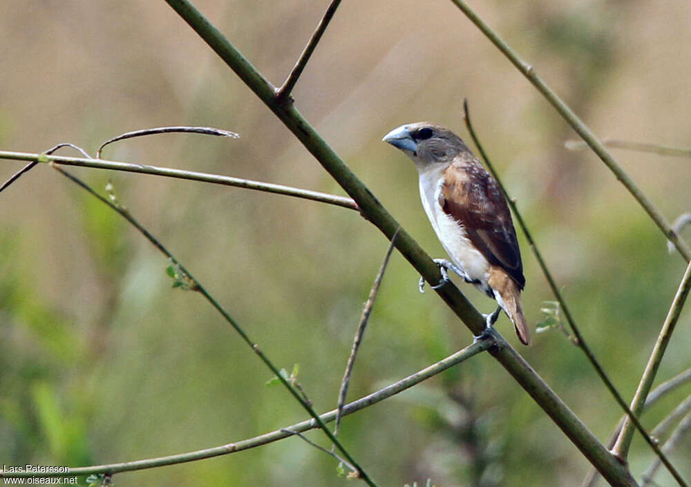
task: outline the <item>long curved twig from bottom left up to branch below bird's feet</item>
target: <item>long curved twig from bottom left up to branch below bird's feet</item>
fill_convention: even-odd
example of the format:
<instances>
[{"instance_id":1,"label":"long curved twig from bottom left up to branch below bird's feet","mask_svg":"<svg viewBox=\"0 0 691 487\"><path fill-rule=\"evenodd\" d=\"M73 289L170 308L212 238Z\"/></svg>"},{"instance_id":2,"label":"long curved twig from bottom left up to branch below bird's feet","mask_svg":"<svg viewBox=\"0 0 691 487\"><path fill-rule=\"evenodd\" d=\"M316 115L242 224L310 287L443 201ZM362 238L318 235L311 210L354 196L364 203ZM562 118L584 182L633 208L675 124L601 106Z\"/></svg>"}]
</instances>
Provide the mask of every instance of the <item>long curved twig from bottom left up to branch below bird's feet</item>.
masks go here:
<instances>
[{"instance_id":1,"label":"long curved twig from bottom left up to branch below bird's feet","mask_svg":"<svg viewBox=\"0 0 691 487\"><path fill-rule=\"evenodd\" d=\"M368 394L357 401L352 401L345 405L343 408L343 415L348 416L364 408L368 408L371 405L384 401L395 394L399 394L406 389L412 388L422 381L426 381L444 370L470 359L472 356L489 350L489 347L495 345L495 342L491 339L479 340L472 345L468 345L462 350L455 352L442 359L433 365L425 367L415 374L411 374L400 381L387 385L372 394ZM321 415L321 420L324 423L330 423L336 419L338 414L337 410L331 410ZM236 443L227 443L225 445L216 446L213 448L205 448L204 450L195 450L193 452L181 453L178 455L170 455L168 457L158 457L144 460L136 461L126 461L120 464L107 464L107 465L95 465L89 467L70 467L68 472L2 472L0 471L0 478L10 478L10 477L73 477L75 475L91 475L97 473L117 473L117 472L129 472L131 470L144 470L145 468L155 468L167 465L183 464L187 461L195 461L205 458L218 457L220 455L229 455L231 453L240 452L243 450L249 450L250 448L256 448L258 446L265 445L267 443L272 443L273 441L278 441L287 437L290 437L284 430L290 430L291 432L305 432L308 430L313 430L316 428L316 423L314 419L307 419L306 421L301 421L301 423L296 423L287 428L281 428L280 430L274 430L264 435L258 437L245 439L242 441L237 441Z\"/></svg>"}]
</instances>

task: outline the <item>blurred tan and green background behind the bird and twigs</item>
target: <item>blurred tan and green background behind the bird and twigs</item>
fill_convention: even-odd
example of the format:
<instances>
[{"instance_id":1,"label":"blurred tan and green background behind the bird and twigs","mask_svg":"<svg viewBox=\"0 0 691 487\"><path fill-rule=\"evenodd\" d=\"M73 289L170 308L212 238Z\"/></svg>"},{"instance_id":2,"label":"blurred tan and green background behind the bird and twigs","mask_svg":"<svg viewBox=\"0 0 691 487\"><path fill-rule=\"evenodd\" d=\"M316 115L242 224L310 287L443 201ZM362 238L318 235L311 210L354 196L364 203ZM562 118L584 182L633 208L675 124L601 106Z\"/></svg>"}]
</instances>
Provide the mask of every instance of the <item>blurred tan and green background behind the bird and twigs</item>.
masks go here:
<instances>
[{"instance_id":1,"label":"blurred tan and green background behind the bird and twigs","mask_svg":"<svg viewBox=\"0 0 691 487\"><path fill-rule=\"evenodd\" d=\"M328 1L197 0L274 84ZM601 137L691 146L691 5L645 1L473 3ZM202 125L238 140L120 142L141 161L342 194L321 166L163 1L9 0L0 5L0 148L72 142L95 153L138 128ZM619 390L634 392L683 273L661 232L451 2L345 1L294 90L296 106L433 256L443 256L417 174L381 143L432 120L475 129ZM68 153L68 152L66 152ZM674 219L689 160L614 151ZM20 169L0 161L0 180ZM357 213L244 189L74 169L117 197L220 300L316 410L335 406L352 334L388 242ZM200 296L171 289L162 258L122 219L46 166L0 195L0 463L81 466L172 455L288 426L305 414ZM522 233L524 306L552 296ZM686 233L688 236L688 233ZM350 399L471 341L394 254L355 365ZM491 301L462 287L484 312ZM498 329L518 343L502 317ZM688 368L685 312L659 379ZM534 326L533 326L534 328ZM620 412L559 332L520 351L605 441ZM517 345L520 346L520 345ZM688 389L688 388L687 388ZM679 391L647 413L652 427ZM489 356L347 417L345 445L380 485L577 485L588 464ZM322 441L319 433L310 437ZM672 455L691 475L691 439ZM636 438L640 475L652 460ZM343 485L300 439L117 475L120 486ZM665 485L669 477L659 475ZM525 479L530 479L526 481Z\"/></svg>"}]
</instances>

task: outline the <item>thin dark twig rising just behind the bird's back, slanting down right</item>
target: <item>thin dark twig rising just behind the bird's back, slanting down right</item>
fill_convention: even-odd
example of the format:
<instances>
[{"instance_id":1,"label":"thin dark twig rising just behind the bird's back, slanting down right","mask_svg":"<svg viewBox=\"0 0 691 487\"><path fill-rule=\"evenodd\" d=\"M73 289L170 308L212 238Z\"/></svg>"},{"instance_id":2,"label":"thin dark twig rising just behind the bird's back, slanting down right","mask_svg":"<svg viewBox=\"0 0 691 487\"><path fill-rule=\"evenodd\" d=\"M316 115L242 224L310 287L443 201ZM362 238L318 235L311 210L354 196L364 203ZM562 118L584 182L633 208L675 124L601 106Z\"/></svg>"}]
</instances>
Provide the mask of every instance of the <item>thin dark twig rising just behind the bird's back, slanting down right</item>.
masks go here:
<instances>
[{"instance_id":1,"label":"thin dark twig rising just behind the bird's back, slanting down right","mask_svg":"<svg viewBox=\"0 0 691 487\"><path fill-rule=\"evenodd\" d=\"M624 398L621 396L618 390L616 390L616 387L614 386L614 383L612 382L611 379L609 379L609 376L607 376L607 373L603 369L603 366L600 365L600 362L598 359L596 359L595 355L593 352L590 350L590 347L585 343L585 339L583 338L583 335L580 333L580 329L576 325L576 321L574 321L573 316L571 316L571 312L569 312L569 308L566 305L566 301L564 298L562 298L561 292L559 291L559 288L557 287L553 277L551 276L551 273L549 272L549 269L547 269L547 265L545 264L545 261L542 260L542 256L540 255L540 251L538 251L538 247L535 245L535 241L533 240L530 232L528 231L525 222L523 221L523 218L518 211L518 208L516 207L515 202L511 199L511 196L507 193L506 189L504 188L504 185L502 184L501 180L498 177L497 172L495 171L493 165L489 161L489 157L487 157L486 153L484 152L484 149L482 148L482 145L480 144L480 141L477 140L477 135L475 135L475 131L473 130L473 125L471 124L471 118L470 118L470 113L468 111L468 100L464 99L463 102L463 108L464 108L464 114L465 114L465 120L466 120L466 126L468 127L468 132L470 132L471 137L473 138L473 142L475 142L475 146L477 146L477 150L480 151L480 155L482 155L482 159L484 160L485 164L491 171L492 175L494 176L495 180L497 180L497 183L499 184L500 188L502 189L502 193L504 193L504 196L506 196L507 201L509 202L509 205L511 205L511 211L513 211L513 214L516 217L516 220L518 220L518 224L520 227L523 229L523 232L525 233L525 236L530 243L531 249L533 249L533 253L535 254L538 264L540 265L540 269L542 269L542 273L545 274L545 278L547 278L547 283L549 283L549 287L552 290L552 293L558 300L558 303L560 307L562 308L564 312L564 316L566 317L567 321L569 322L569 326L571 327L571 330L574 332L574 336L576 337L576 340L574 343L578 347L580 347L581 350L585 353L585 356L587 357L588 361L591 363L591 365L594 367L595 371L597 372L598 376L600 376L600 379L605 383L605 386L609 390L610 393L612 393L612 396L614 396L614 399L616 402L621 406L621 408L624 410L624 412L627 414L627 417L631 418L633 420L633 424L638 428L638 430L641 432L641 435L645 437L646 441L654 446L653 449L656 448L656 443L654 443L654 439L650 437L650 434L643 428L643 425L641 425L641 422L638 421L638 418L634 414L634 412L629 408L627 405L626 401L624 401ZM640 413L640 411L638 412ZM636 414L638 414L636 413Z\"/></svg>"}]
</instances>

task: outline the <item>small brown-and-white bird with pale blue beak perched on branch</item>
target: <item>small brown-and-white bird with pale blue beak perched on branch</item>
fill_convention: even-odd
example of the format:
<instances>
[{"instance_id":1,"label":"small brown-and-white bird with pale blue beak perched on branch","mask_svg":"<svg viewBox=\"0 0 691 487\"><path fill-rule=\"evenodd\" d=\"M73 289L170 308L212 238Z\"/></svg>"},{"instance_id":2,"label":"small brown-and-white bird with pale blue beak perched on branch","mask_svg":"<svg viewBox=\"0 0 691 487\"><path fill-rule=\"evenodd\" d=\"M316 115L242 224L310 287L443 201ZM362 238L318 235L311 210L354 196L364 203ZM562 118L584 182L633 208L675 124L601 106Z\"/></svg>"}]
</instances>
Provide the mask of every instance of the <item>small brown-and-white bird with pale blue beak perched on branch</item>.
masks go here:
<instances>
[{"instance_id":1,"label":"small brown-and-white bird with pale blue beak perched on branch","mask_svg":"<svg viewBox=\"0 0 691 487\"><path fill-rule=\"evenodd\" d=\"M481 336L491 330L503 309L518 339L529 345L530 330L520 298L525 287L523 264L511 211L499 184L463 140L444 126L405 124L382 140L415 163L422 206L451 257L451 262L435 259L442 281L433 288L446 283L446 269L451 269L498 304L495 312L484 315L486 330ZM421 279L421 291L422 285Z\"/></svg>"}]
</instances>

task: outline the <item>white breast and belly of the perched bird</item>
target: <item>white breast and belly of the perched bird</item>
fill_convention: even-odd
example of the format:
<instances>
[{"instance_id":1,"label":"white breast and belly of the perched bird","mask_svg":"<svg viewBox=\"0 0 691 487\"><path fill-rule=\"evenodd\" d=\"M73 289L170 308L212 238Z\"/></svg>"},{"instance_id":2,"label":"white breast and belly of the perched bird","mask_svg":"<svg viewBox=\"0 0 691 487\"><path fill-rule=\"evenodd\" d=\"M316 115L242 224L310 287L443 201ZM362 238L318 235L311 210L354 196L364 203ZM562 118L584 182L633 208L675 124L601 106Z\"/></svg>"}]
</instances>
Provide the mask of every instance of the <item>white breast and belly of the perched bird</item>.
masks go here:
<instances>
[{"instance_id":1,"label":"white breast and belly of the perched bird","mask_svg":"<svg viewBox=\"0 0 691 487\"><path fill-rule=\"evenodd\" d=\"M442 191L442 172L444 166L427 167L419 171L420 198L422 206L430 219L437 238L455 265L464 269L469 278L486 283L489 262L475 249L460 222L444 213L439 205L439 194Z\"/></svg>"}]
</instances>

